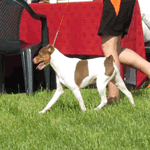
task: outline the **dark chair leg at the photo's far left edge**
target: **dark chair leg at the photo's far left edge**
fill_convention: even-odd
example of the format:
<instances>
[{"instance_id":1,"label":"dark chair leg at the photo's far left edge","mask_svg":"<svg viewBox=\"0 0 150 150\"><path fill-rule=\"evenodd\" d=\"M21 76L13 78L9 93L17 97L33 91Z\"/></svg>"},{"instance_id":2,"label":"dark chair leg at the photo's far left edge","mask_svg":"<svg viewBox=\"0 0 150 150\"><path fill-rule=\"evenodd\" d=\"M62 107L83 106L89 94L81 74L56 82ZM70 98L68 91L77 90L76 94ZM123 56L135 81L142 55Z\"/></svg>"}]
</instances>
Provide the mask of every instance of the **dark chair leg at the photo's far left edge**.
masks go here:
<instances>
[{"instance_id":1,"label":"dark chair leg at the photo's far left edge","mask_svg":"<svg viewBox=\"0 0 150 150\"><path fill-rule=\"evenodd\" d=\"M0 94L2 94L5 84L5 55L0 55L0 62Z\"/></svg>"}]
</instances>

